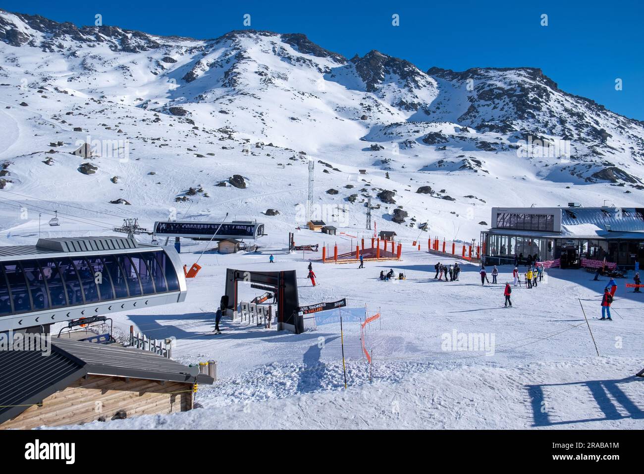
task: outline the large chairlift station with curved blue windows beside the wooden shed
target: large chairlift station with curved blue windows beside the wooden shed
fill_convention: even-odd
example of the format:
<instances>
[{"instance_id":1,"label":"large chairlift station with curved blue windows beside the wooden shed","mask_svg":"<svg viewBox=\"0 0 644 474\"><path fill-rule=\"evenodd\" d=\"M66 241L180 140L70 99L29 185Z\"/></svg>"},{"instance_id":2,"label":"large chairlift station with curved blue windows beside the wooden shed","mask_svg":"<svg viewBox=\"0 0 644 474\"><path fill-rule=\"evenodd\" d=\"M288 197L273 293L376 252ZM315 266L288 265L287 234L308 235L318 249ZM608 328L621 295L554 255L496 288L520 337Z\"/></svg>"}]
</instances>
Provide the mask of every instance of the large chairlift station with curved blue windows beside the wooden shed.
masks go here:
<instances>
[{"instance_id":1,"label":"large chairlift station with curved blue windows beside the wooden shed","mask_svg":"<svg viewBox=\"0 0 644 474\"><path fill-rule=\"evenodd\" d=\"M38 239L0 247L0 331L185 300L173 248L126 237Z\"/></svg>"}]
</instances>

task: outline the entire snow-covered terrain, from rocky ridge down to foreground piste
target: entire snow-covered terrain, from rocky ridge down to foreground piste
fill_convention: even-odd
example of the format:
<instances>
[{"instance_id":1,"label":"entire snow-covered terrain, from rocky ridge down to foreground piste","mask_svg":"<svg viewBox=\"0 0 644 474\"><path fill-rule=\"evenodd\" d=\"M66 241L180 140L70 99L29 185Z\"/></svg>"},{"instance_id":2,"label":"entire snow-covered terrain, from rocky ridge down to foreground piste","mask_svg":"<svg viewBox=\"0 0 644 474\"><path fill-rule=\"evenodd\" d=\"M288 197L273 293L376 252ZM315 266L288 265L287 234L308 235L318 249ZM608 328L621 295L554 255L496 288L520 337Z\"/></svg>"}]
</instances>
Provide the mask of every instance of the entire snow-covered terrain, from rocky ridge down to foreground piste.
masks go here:
<instances>
[{"instance_id":1,"label":"entire snow-covered terrain, from rocky ridge down to foreground piste","mask_svg":"<svg viewBox=\"0 0 644 474\"><path fill-rule=\"evenodd\" d=\"M538 295L517 290L518 308L501 310L502 290L480 287L475 268L458 284L435 282L436 257L411 250L419 235L423 244L430 235L478 239L491 206L641 206L642 124L566 94L536 69L423 72L382 52L346 59L301 34L245 30L198 41L0 10L0 130L0 244L109 235L126 217L148 229L159 219L225 213L266 224L265 253L205 254L184 303L115 317L123 333L134 324L150 337L175 336L182 362L220 362L220 382L198 393L204 409L91 428L641 428L638 382L628 379L641 368L634 358L644 330L634 295L615 306L623 321L591 321L609 357L596 359L576 298L594 315L601 282L553 271ZM570 153L522 154L529 136L570 141ZM97 144L95 156L71 154L85 142ZM383 329L367 339L373 384L357 324L346 328L346 392L333 325L295 336L227 322L223 335L211 332L225 268L269 270L266 252L274 252L274 267L300 273L317 257L280 253L305 220L309 159L314 217L339 233L325 241L303 230L298 244L349 248L351 236L369 237L371 196L378 230L395 230L404 248L395 269L408 280L396 286L375 280L384 264L363 273L317 265L316 288L299 275L303 303L348 297L352 308L382 310ZM245 188L232 186L233 175ZM383 190L395 202L380 199ZM129 205L110 203L119 200ZM392 221L397 208L408 213L404 222ZM61 226L50 227L55 211ZM184 242L184 262L204 248ZM440 338L453 330L493 333L500 347L491 357L446 353ZM611 392L611 411L596 402L595 385L580 382L624 395ZM535 415L529 384L543 385L558 407L547 422ZM347 404L360 408L341 414Z\"/></svg>"}]
</instances>

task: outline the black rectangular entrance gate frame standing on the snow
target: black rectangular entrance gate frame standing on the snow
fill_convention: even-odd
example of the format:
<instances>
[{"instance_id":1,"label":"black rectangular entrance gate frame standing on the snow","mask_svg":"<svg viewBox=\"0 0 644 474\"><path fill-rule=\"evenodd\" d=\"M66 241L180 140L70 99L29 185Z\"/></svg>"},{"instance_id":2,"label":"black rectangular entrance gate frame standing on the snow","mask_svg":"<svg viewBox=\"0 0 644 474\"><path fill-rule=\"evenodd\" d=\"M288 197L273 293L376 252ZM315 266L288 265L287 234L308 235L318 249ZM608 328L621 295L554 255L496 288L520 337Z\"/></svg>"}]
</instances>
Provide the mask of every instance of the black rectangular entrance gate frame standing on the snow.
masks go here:
<instances>
[{"instance_id":1,"label":"black rectangular entrance gate frame standing on the snow","mask_svg":"<svg viewBox=\"0 0 644 474\"><path fill-rule=\"evenodd\" d=\"M238 282L250 284L251 288L272 291L277 298L278 330L299 334L304 331L303 317L298 314L298 283L295 270L284 272L248 272L226 270L227 310L236 311L238 304Z\"/></svg>"}]
</instances>

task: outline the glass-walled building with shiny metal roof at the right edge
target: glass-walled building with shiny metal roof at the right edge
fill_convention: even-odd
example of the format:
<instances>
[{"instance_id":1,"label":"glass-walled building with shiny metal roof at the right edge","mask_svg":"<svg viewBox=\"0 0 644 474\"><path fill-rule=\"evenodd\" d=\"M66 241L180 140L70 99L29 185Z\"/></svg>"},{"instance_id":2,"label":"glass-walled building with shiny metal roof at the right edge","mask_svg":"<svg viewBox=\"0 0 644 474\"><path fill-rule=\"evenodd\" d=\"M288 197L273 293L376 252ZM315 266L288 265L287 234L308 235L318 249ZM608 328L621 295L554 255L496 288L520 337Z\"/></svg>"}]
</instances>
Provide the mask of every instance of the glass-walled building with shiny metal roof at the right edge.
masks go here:
<instances>
[{"instance_id":1,"label":"glass-walled building with shiny metal roof at the right edge","mask_svg":"<svg viewBox=\"0 0 644 474\"><path fill-rule=\"evenodd\" d=\"M553 266L579 268L615 263L644 265L644 208L492 208L491 228L481 233L486 264L512 264L529 256Z\"/></svg>"}]
</instances>

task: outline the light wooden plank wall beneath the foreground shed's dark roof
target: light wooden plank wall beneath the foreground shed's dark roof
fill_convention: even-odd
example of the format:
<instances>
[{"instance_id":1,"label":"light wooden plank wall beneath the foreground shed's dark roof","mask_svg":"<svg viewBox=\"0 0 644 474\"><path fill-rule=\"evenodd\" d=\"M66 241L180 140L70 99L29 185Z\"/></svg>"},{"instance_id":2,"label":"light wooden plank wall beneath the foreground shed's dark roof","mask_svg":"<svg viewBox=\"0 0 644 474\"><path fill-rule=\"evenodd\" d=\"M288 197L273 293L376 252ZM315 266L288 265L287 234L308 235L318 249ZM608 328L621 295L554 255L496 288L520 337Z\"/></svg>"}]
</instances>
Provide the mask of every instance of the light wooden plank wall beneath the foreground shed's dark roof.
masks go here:
<instances>
[{"instance_id":1,"label":"light wooden plank wall beneath the foreground shed's dark roof","mask_svg":"<svg viewBox=\"0 0 644 474\"><path fill-rule=\"evenodd\" d=\"M0 424L0 430L80 424L101 416L109 421L119 410L125 410L128 418L187 411L192 409L192 395L192 384L90 375L53 393L43 406L31 406Z\"/></svg>"}]
</instances>

